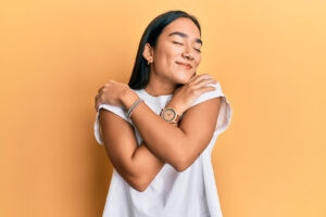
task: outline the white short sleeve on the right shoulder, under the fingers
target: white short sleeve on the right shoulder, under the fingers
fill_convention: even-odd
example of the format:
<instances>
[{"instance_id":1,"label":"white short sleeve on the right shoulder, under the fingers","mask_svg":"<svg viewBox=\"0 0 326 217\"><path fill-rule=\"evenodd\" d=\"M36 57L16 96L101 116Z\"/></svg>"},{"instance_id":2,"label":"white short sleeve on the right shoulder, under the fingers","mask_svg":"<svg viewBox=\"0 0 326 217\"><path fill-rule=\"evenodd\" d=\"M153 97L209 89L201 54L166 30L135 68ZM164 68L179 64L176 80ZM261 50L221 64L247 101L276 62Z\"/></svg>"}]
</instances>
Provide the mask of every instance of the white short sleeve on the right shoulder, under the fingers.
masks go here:
<instances>
[{"instance_id":1,"label":"white short sleeve on the right shoulder, under the fingers","mask_svg":"<svg viewBox=\"0 0 326 217\"><path fill-rule=\"evenodd\" d=\"M226 128L229 126L233 111L231 111L231 107L230 107L230 104L229 104L228 100L226 99L226 97L224 95L224 93L222 91L221 84L220 82L209 84L208 86L213 86L216 89L213 90L213 91L202 93L192 103L191 106L197 105L201 102L204 102L204 101L213 99L213 98L222 97L218 117L217 117L217 123L216 123L216 127L215 127L215 131L214 131L214 133L220 135L220 133L224 132L226 130Z\"/></svg>"}]
</instances>

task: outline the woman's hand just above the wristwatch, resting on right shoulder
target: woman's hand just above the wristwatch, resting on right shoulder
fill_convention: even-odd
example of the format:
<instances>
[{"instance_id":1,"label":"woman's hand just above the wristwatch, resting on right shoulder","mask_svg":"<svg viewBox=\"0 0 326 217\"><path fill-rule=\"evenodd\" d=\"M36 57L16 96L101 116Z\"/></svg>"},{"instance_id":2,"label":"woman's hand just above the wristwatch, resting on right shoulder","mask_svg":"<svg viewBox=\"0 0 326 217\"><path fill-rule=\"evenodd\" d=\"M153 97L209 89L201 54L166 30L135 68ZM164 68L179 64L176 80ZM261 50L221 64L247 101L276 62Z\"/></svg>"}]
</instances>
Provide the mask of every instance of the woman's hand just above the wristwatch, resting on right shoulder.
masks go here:
<instances>
[{"instance_id":1,"label":"woman's hand just above the wristwatch, resting on right shoulder","mask_svg":"<svg viewBox=\"0 0 326 217\"><path fill-rule=\"evenodd\" d=\"M179 88L176 88L172 100L167 106L174 107L181 115L191 104L204 92L215 90L215 87L206 86L209 84L217 84L211 75L195 75L190 80Z\"/></svg>"}]
</instances>

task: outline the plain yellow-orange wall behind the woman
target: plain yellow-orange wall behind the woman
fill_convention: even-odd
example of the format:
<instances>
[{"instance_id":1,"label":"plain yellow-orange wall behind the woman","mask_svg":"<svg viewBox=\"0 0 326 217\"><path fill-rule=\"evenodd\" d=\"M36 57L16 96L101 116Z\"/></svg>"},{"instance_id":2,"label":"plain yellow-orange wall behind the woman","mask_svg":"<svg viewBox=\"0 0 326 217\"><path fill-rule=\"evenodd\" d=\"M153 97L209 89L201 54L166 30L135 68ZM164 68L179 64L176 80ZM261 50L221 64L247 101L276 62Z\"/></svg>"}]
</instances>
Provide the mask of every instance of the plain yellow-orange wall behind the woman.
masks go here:
<instances>
[{"instance_id":1,"label":"plain yellow-orange wall behind the woman","mask_svg":"<svg viewBox=\"0 0 326 217\"><path fill-rule=\"evenodd\" d=\"M199 18L199 73L233 106L213 151L224 216L326 216L323 0L2 1L0 216L101 215L93 98L127 82L145 27L175 9Z\"/></svg>"}]
</instances>

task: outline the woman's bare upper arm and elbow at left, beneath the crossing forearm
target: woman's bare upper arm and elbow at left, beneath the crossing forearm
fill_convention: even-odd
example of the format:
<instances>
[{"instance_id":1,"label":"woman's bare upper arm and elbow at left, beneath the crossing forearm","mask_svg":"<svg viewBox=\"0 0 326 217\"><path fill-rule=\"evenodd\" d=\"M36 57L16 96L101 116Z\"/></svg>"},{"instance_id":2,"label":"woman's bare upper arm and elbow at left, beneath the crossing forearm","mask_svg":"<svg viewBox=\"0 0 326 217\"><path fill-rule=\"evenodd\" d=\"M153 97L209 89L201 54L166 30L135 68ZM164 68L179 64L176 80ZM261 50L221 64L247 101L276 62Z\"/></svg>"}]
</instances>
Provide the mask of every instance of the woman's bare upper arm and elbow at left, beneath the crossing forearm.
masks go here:
<instances>
[{"instance_id":1,"label":"woman's bare upper arm and elbow at left, beneath the crossing forearm","mask_svg":"<svg viewBox=\"0 0 326 217\"><path fill-rule=\"evenodd\" d=\"M145 191L164 166L146 145L137 145L133 126L114 113L100 110L106 154L117 173L137 191ZM123 133L122 133L123 132Z\"/></svg>"}]
</instances>

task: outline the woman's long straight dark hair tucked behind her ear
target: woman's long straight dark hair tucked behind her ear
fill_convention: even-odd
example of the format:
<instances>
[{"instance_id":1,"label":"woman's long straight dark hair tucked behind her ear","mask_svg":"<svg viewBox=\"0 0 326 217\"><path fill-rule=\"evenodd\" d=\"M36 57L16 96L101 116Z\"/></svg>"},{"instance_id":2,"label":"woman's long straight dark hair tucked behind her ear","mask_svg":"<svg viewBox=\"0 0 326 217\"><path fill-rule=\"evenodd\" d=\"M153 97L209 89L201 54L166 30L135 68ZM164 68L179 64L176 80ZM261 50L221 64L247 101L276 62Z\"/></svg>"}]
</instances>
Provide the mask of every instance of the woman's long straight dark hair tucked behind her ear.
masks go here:
<instances>
[{"instance_id":1,"label":"woman's long straight dark hair tucked behind her ear","mask_svg":"<svg viewBox=\"0 0 326 217\"><path fill-rule=\"evenodd\" d=\"M168 11L159 16L156 16L145 29L133 69L131 77L129 79L128 86L131 89L142 89L147 86L150 78L150 65L147 64L147 60L142 56L143 48L146 43L149 43L151 47L155 47L158 42L158 38L165 26L167 26L173 21L179 17L190 18L199 28L201 34L201 28L198 20L184 12L184 11Z\"/></svg>"}]
</instances>

